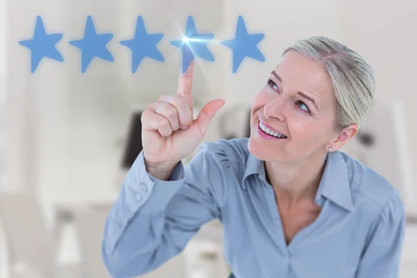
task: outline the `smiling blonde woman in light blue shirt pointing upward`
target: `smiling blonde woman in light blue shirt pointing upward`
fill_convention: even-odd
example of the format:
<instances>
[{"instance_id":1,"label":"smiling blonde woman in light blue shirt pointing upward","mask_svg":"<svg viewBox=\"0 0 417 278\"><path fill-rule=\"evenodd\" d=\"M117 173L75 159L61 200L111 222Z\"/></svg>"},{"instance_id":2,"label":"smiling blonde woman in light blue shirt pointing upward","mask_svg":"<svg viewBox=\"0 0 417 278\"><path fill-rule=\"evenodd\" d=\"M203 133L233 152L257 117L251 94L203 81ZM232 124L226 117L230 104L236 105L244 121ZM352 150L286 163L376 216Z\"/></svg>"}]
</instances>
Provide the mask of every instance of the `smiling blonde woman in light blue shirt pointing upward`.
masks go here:
<instances>
[{"instance_id":1,"label":"smiling blonde woman in light blue shirt pointing upward","mask_svg":"<svg viewBox=\"0 0 417 278\"><path fill-rule=\"evenodd\" d=\"M143 151L108 215L102 255L133 277L179 254L219 219L237 278L398 277L404 206L384 177L338 151L359 129L375 81L329 38L288 47L252 104L250 138L205 142L224 101L193 120L193 64L176 95L142 114Z\"/></svg>"}]
</instances>

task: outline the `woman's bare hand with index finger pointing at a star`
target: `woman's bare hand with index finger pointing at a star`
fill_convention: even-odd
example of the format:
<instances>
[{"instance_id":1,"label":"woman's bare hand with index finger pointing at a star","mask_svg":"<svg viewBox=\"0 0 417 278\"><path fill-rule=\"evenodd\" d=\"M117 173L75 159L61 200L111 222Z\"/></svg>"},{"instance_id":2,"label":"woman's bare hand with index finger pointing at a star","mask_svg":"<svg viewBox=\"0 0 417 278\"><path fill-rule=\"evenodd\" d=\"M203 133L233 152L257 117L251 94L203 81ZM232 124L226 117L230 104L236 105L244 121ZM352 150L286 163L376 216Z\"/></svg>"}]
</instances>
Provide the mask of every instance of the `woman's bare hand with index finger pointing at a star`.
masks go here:
<instances>
[{"instance_id":1,"label":"woman's bare hand with index finger pointing at a star","mask_svg":"<svg viewBox=\"0 0 417 278\"><path fill-rule=\"evenodd\" d=\"M145 163L170 168L190 156L206 134L208 124L224 105L223 99L209 101L193 117L194 60L179 76L175 95L163 95L142 113L142 145Z\"/></svg>"}]
</instances>

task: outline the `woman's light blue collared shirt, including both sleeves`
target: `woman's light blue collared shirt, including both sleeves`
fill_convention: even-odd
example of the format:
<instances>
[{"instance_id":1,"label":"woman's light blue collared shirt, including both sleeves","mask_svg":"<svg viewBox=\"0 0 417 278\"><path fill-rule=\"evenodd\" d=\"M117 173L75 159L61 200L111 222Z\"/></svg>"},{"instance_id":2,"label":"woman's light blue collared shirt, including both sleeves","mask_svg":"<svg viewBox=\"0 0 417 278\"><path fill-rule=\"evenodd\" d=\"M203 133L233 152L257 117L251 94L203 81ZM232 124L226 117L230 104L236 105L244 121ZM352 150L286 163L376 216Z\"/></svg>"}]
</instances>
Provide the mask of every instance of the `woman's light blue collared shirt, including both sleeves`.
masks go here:
<instances>
[{"instance_id":1,"label":"woman's light blue collared shirt, including both sleeves","mask_svg":"<svg viewBox=\"0 0 417 278\"><path fill-rule=\"evenodd\" d=\"M320 215L286 245L264 163L247 142L202 143L170 181L148 174L141 152L104 227L108 271L122 278L154 270L218 219L237 278L398 277L405 213L386 179L343 152L329 153L316 195Z\"/></svg>"}]
</instances>

